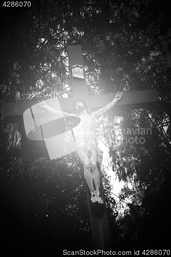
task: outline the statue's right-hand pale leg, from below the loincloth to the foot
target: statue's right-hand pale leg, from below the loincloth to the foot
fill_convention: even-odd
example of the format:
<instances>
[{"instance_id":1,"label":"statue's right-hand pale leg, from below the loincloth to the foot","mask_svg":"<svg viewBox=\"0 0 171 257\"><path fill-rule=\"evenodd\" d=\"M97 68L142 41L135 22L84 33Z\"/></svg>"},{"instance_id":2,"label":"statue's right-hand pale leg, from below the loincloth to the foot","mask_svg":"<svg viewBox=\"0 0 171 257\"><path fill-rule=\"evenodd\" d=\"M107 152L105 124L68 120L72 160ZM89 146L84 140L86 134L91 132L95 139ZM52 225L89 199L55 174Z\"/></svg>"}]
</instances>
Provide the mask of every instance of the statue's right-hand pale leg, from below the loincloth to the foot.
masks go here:
<instances>
[{"instance_id":1,"label":"statue's right-hand pale leg, from below the loincloth to the foot","mask_svg":"<svg viewBox=\"0 0 171 257\"><path fill-rule=\"evenodd\" d=\"M90 160L90 166L91 166L91 172L92 172L92 177L94 180L94 185L96 187L96 201L98 201L99 204L103 204L103 198L101 197L100 193L100 173L97 167L97 152L92 150L92 155L89 158Z\"/></svg>"}]
</instances>

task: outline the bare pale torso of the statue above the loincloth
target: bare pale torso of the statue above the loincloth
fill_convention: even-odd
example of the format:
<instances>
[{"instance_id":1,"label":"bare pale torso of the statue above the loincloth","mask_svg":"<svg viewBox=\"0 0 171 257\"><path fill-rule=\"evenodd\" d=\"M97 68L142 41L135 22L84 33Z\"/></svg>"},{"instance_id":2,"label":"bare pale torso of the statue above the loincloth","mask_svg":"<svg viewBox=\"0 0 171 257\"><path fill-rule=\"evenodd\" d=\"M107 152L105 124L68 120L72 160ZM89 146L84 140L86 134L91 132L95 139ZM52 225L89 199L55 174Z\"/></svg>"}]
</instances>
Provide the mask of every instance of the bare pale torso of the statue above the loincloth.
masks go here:
<instances>
[{"instance_id":1,"label":"bare pale torso of the statue above the loincloth","mask_svg":"<svg viewBox=\"0 0 171 257\"><path fill-rule=\"evenodd\" d=\"M81 122L77 127L75 127L77 131L77 137L94 137L96 131L96 118L94 115L80 115L79 118L81 119Z\"/></svg>"}]
</instances>

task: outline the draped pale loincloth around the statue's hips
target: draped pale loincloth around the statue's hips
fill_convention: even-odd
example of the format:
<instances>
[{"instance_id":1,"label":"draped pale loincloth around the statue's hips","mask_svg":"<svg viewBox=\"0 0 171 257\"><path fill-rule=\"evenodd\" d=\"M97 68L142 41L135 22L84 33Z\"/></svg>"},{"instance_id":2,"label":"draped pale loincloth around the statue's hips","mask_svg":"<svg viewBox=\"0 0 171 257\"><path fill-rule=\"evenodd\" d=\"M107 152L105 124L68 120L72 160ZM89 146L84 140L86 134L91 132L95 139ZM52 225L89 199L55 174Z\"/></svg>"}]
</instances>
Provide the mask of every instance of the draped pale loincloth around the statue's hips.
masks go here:
<instances>
[{"instance_id":1,"label":"draped pale loincloth around the statue's hips","mask_svg":"<svg viewBox=\"0 0 171 257\"><path fill-rule=\"evenodd\" d=\"M92 150L97 152L97 161L101 165L103 159L103 151L99 148L94 137L75 138L76 154L79 149L83 148L88 158L92 155Z\"/></svg>"}]
</instances>

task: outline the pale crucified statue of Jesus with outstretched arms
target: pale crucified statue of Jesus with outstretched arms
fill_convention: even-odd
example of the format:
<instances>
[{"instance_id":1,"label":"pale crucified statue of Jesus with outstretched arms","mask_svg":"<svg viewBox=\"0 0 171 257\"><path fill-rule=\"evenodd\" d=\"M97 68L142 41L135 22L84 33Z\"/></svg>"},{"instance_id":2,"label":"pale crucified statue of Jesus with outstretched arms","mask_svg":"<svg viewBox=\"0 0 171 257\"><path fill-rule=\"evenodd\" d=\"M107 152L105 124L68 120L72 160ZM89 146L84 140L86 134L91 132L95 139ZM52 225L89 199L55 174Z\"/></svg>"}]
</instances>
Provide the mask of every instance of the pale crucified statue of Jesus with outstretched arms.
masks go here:
<instances>
[{"instance_id":1,"label":"pale crucified statue of Jesus with outstretched arms","mask_svg":"<svg viewBox=\"0 0 171 257\"><path fill-rule=\"evenodd\" d=\"M84 167L84 177L90 190L90 199L92 204L103 204L103 198L100 192L100 172L97 163L101 164L103 152L98 147L95 139L96 121L99 117L109 111L123 96L123 93L117 93L112 102L96 112L89 114L88 107L83 100L77 100L73 103L73 107L79 112L76 114L69 114L60 112L54 108L49 107L43 100L39 103L40 107L47 109L53 114L62 114L63 116L77 116L81 122L77 127L77 136L75 136L76 153L79 156Z\"/></svg>"}]
</instances>

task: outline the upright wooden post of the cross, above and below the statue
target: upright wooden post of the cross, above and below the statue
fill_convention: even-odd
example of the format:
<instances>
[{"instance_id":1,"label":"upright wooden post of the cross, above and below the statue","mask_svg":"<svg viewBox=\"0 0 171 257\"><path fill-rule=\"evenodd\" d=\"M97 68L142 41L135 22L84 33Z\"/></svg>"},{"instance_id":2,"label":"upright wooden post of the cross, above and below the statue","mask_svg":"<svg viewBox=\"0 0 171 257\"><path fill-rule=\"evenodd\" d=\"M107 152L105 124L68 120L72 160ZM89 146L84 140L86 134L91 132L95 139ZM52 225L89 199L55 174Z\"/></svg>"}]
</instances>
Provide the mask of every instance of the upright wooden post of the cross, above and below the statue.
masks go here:
<instances>
[{"instance_id":1,"label":"upright wooden post of the cross, above and below the statue","mask_svg":"<svg viewBox=\"0 0 171 257\"><path fill-rule=\"evenodd\" d=\"M86 76L84 70L84 61L82 56L82 49L81 45L73 45L68 46L68 58L69 58L69 68L71 74L71 84L73 90L73 99L81 99L84 100L89 110L90 103L89 103L89 95L88 95L88 87L86 83ZM73 72L74 67L83 66L83 74L84 79L78 77L74 77ZM81 74L81 71L77 72L77 74ZM100 167L99 171L100 171ZM87 197L87 206L88 206L88 214L89 214L89 221L90 221L90 229L91 229L91 238L92 238L92 245L94 250L111 250L112 243L111 243L111 236L110 236L110 229L107 217L107 210L105 205L105 197L102 185L102 178L101 178L101 195L104 199L104 205L99 206L92 206L90 202L90 192L87 186L87 183L84 179L86 197Z\"/></svg>"}]
</instances>

